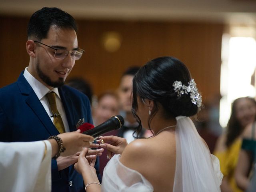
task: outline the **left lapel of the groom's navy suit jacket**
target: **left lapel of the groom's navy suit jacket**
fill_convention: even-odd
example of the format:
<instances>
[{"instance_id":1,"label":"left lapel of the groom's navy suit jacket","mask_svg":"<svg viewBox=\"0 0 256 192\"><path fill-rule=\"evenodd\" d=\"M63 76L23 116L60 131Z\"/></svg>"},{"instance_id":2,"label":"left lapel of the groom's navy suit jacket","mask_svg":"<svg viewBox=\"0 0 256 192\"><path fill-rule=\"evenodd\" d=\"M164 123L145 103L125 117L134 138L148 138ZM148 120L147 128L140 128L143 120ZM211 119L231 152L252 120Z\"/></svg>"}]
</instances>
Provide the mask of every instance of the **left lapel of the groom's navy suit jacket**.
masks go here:
<instances>
[{"instance_id":1,"label":"left lapel of the groom's navy suit jacket","mask_svg":"<svg viewBox=\"0 0 256 192\"><path fill-rule=\"evenodd\" d=\"M27 96L26 103L28 104L28 106L30 106L30 108L33 110L36 116L40 119L46 130L48 130L49 134L58 135L58 130L55 128L54 124L50 120L40 100L36 96L36 93L30 86L30 84L27 82L27 80L24 78L23 72L20 74L20 77L18 78L17 82L21 94Z\"/></svg>"}]
</instances>

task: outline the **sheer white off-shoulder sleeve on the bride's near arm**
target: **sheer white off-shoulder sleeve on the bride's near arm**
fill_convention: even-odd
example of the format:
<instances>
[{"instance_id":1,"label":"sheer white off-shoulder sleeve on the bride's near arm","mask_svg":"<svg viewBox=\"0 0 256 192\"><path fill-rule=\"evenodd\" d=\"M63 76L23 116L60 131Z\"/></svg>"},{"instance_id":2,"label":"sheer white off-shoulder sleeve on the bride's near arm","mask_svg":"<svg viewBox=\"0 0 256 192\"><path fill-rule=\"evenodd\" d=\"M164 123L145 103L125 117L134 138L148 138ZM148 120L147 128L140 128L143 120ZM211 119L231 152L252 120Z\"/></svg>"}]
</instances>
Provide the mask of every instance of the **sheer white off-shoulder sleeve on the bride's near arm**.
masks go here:
<instances>
[{"instance_id":1,"label":"sheer white off-shoulder sleeve on the bride's near arm","mask_svg":"<svg viewBox=\"0 0 256 192\"><path fill-rule=\"evenodd\" d=\"M102 192L152 192L153 186L138 171L124 166L114 155L104 168Z\"/></svg>"}]
</instances>

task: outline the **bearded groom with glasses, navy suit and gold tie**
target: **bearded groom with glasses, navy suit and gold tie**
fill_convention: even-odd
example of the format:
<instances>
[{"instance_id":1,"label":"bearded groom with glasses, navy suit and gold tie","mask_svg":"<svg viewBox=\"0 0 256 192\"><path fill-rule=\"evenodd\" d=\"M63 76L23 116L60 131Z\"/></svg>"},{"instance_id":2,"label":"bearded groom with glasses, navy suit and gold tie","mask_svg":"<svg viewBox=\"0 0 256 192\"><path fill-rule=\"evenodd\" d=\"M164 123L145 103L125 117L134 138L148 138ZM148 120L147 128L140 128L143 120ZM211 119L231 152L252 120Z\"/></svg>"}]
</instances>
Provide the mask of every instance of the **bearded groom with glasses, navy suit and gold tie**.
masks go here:
<instances>
[{"instance_id":1,"label":"bearded groom with glasses, navy suit and gold tie","mask_svg":"<svg viewBox=\"0 0 256 192\"><path fill-rule=\"evenodd\" d=\"M92 123L88 98L64 86L84 53L78 47L76 30L74 18L58 8L42 8L31 16L28 67L17 82L0 89L0 141L45 140L75 131L78 121ZM52 160L53 192L84 191L83 178L73 167L78 155Z\"/></svg>"}]
</instances>

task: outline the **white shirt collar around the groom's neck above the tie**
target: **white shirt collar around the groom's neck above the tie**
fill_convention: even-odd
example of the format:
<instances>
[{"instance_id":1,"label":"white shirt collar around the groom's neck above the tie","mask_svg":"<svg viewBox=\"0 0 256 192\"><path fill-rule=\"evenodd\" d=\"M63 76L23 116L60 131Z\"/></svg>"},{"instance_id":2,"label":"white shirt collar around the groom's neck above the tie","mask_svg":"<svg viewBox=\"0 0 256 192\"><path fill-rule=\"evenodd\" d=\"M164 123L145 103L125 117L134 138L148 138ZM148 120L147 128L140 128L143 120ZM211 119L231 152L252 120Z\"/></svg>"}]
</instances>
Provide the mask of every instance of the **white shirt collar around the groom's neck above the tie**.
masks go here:
<instances>
[{"instance_id":1,"label":"white shirt collar around the groom's neck above the tie","mask_svg":"<svg viewBox=\"0 0 256 192\"><path fill-rule=\"evenodd\" d=\"M38 81L34 76L28 72L28 67L25 68L23 73L25 79L28 81L34 92L36 93L36 96L39 100L41 100L48 92L55 92L56 95L60 98L59 90L58 88L53 88L50 90L47 88L44 84L42 84L40 81Z\"/></svg>"}]
</instances>

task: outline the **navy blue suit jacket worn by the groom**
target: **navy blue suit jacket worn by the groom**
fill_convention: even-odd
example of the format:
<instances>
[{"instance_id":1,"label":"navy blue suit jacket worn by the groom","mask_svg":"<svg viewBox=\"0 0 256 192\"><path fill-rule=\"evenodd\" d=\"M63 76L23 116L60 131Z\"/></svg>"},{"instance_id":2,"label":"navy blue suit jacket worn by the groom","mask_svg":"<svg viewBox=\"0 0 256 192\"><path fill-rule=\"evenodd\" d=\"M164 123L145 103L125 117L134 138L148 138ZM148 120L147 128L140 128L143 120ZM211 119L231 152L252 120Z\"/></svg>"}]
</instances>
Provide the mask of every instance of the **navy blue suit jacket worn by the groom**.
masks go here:
<instances>
[{"instance_id":1,"label":"navy blue suit jacket worn by the groom","mask_svg":"<svg viewBox=\"0 0 256 192\"><path fill-rule=\"evenodd\" d=\"M70 131L76 130L76 123L82 118L84 122L92 124L88 98L68 86L62 86L58 90ZM23 72L15 83L0 89L0 141L38 141L58 134L34 90L24 78ZM98 166L97 163L96 170ZM52 191L84 191L82 176L74 170L73 165L58 171L57 162L52 159Z\"/></svg>"}]
</instances>

